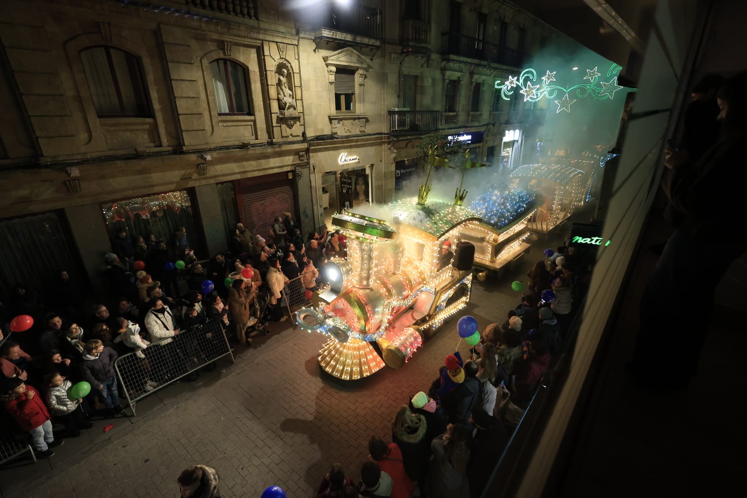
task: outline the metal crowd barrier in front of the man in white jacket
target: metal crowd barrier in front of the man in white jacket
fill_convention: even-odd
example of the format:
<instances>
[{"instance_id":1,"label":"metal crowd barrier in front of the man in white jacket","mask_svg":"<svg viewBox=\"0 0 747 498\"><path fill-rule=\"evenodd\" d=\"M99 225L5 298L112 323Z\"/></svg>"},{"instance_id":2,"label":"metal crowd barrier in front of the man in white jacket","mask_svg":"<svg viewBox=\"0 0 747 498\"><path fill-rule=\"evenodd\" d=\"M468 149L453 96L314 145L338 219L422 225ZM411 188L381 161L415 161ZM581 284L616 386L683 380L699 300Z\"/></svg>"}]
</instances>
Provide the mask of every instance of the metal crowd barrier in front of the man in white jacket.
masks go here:
<instances>
[{"instance_id":1,"label":"metal crowd barrier in front of the man in white jacket","mask_svg":"<svg viewBox=\"0 0 747 498\"><path fill-rule=\"evenodd\" d=\"M140 352L129 352L114 362L127 404L135 412L135 403L211 364L218 358L234 360L223 320L209 320L161 339Z\"/></svg>"}]
</instances>

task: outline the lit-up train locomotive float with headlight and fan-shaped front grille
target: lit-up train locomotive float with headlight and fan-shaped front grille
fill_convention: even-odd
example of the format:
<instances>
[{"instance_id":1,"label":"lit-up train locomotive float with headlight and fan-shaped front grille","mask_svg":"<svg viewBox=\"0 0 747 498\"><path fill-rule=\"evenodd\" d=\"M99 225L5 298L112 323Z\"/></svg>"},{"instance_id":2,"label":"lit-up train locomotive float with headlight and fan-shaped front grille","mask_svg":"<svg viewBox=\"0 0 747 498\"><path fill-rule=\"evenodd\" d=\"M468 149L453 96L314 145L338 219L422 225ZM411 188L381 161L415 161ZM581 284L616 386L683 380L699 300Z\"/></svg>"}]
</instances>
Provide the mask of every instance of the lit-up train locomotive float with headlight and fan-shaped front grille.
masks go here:
<instances>
[{"instance_id":1,"label":"lit-up train locomotive float with headlight and fan-shaped front grille","mask_svg":"<svg viewBox=\"0 0 747 498\"><path fill-rule=\"evenodd\" d=\"M375 217L350 211L332 217L347 237L347 260L320 269L329 288L296 313L301 329L329 337L319 363L344 380L370 376L385 364L401 367L467 305L474 247L461 242L462 235L485 230L473 211L446 202L404 199L369 209ZM441 257L447 240L456 247L450 262Z\"/></svg>"}]
</instances>

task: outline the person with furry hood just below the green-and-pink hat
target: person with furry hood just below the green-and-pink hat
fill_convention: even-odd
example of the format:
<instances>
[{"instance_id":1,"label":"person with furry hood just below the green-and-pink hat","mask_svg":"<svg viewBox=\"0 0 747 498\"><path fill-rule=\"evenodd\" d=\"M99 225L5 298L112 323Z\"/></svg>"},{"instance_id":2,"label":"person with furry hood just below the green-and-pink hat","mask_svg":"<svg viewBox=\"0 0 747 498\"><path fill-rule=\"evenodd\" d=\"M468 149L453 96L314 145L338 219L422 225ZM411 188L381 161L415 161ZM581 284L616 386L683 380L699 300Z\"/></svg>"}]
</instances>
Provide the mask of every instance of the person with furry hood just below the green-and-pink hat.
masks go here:
<instances>
[{"instance_id":1,"label":"person with furry hood just below the green-and-pink hat","mask_svg":"<svg viewBox=\"0 0 747 498\"><path fill-rule=\"evenodd\" d=\"M430 458L430 441L425 437L428 426L423 415L413 414L402 405L391 423L391 441L399 446L410 479L424 485Z\"/></svg>"}]
</instances>

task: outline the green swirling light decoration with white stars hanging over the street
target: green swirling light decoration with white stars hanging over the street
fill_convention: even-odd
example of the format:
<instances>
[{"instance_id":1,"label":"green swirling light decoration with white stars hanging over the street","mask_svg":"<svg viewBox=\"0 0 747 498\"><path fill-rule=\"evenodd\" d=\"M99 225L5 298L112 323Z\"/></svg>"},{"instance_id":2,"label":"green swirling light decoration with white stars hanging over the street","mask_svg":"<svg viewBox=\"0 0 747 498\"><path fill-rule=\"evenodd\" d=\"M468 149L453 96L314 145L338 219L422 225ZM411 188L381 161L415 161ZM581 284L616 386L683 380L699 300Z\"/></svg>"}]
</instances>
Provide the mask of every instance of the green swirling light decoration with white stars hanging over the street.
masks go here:
<instances>
[{"instance_id":1,"label":"green swirling light decoration with white stars hanging over the street","mask_svg":"<svg viewBox=\"0 0 747 498\"><path fill-rule=\"evenodd\" d=\"M616 76L616 73L622 69L622 66L613 63L610 66L610 69L607 69L607 78L611 78L609 82L599 81L598 76L601 74L597 69L598 66L595 66L594 69L586 69L587 74L583 79L589 79L591 83L581 83L572 85L571 87L561 87L557 84L551 84L552 81L556 81L554 76L556 72L546 70L545 76L537 78L537 72L528 67L521 71L518 77L509 76L509 78L503 83L501 83L500 80L495 81L494 87L500 89L500 96L504 100L510 100L515 91L514 87L519 87L521 88L519 93L524 95L524 102L537 102L542 98L554 100L558 95L563 95L565 93L565 96L562 99L554 101L558 105L558 111L556 113L559 113L561 110L570 113L570 106L573 102L576 102L577 99L583 99L586 97L591 97L595 100L612 99L615 96L615 92L623 88L617 84ZM536 83L536 85L533 83ZM576 97L576 99L571 99L571 96Z\"/></svg>"}]
</instances>

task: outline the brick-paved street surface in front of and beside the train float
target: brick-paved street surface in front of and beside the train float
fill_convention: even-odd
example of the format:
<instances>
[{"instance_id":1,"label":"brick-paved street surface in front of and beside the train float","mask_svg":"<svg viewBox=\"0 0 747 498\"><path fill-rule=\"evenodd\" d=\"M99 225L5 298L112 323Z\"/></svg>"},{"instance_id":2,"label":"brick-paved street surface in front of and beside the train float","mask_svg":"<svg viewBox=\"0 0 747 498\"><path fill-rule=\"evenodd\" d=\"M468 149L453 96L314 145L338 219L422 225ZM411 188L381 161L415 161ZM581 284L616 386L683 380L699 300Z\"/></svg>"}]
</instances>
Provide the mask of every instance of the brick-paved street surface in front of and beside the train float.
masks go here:
<instances>
[{"instance_id":1,"label":"brick-paved street surface in front of and beside the train float","mask_svg":"<svg viewBox=\"0 0 747 498\"><path fill-rule=\"evenodd\" d=\"M464 314L474 315L481 329L487 317L504 320L518 302L506 290L510 281L476 284ZM239 352L235 364L223 362L196 382L143 399L138 416L114 420L110 432L96 422L52 458L4 466L1 496L176 497L176 476L197 463L218 470L223 497L257 497L270 485L289 498L314 496L335 461L359 478L368 438L391 440L397 408L427 390L459 340L455 317L403 368L342 382L317 364L321 334L288 323L273 328ZM460 350L468 351L464 341Z\"/></svg>"}]
</instances>

